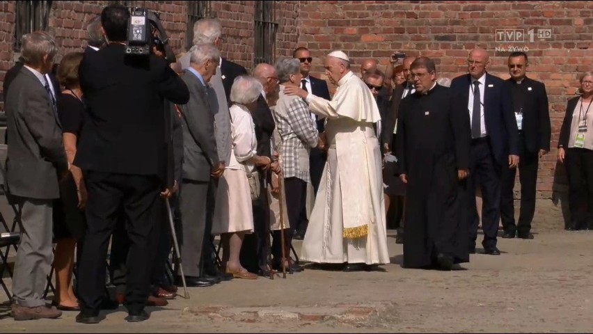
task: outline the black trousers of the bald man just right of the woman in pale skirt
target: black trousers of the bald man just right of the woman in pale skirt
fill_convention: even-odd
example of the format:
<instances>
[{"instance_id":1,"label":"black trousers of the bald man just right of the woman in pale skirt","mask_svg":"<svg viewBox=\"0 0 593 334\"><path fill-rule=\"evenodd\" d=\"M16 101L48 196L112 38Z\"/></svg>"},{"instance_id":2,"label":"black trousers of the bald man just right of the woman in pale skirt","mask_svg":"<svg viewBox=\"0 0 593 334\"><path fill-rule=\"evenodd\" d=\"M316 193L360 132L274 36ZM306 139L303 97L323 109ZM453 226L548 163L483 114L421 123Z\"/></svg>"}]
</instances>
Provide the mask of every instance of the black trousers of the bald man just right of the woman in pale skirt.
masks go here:
<instances>
[{"instance_id":1,"label":"black trousers of the bald man just right of the woman in pale skirt","mask_svg":"<svg viewBox=\"0 0 593 334\"><path fill-rule=\"evenodd\" d=\"M241 247L239 259L242 266L251 273L258 273L267 269L270 254L270 209L266 173L260 171L260 184L262 191L258 200L254 200L253 208L253 233L246 234Z\"/></svg>"}]
</instances>

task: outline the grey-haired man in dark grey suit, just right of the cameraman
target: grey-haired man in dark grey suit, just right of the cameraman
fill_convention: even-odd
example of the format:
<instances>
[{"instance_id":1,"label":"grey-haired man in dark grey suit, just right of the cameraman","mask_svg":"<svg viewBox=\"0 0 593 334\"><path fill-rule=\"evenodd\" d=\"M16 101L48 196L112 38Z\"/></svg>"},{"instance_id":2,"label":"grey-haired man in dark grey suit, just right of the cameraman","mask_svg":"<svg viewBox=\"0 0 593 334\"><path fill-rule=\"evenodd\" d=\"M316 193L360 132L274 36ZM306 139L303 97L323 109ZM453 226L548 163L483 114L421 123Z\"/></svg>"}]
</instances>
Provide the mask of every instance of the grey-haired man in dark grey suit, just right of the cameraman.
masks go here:
<instances>
[{"instance_id":1,"label":"grey-haired man in dark grey suit, just right of the cameraman","mask_svg":"<svg viewBox=\"0 0 593 334\"><path fill-rule=\"evenodd\" d=\"M207 287L220 280L203 271L204 242L212 225L206 224L207 207L213 207L212 177L224 172L214 139L214 113L208 101L208 83L219 65L220 52L213 44L191 48L190 66L182 76L189 88L189 102L182 106L184 163L181 183L182 258L186 263L185 280L191 287ZM207 255L206 255L207 256Z\"/></svg>"}]
</instances>

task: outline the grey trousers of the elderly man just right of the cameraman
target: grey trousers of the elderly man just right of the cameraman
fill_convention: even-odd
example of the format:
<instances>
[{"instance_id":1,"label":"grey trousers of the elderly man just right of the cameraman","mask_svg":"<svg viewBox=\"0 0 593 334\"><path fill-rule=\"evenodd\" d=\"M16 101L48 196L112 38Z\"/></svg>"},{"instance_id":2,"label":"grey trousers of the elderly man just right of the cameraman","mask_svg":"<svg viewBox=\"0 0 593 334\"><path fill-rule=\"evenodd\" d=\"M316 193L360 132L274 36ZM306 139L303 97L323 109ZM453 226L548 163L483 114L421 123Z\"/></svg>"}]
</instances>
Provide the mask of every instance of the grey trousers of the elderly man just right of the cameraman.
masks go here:
<instances>
[{"instance_id":1,"label":"grey trousers of the elderly man just right of the cameraman","mask_svg":"<svg viewBox=\"0 0 593 334\"><path fill-rule=\"evenodd\" d=\"M209 243L212 224L206 223L207 205L213 205L208 196L212 182L182 180L180 192L181 241L180 252L185 276L200 277L203 269L203 250ZM209 225L209 226L207 226ZM206 239L208 238L208 239Z\"/></svg>"}]
</instances>

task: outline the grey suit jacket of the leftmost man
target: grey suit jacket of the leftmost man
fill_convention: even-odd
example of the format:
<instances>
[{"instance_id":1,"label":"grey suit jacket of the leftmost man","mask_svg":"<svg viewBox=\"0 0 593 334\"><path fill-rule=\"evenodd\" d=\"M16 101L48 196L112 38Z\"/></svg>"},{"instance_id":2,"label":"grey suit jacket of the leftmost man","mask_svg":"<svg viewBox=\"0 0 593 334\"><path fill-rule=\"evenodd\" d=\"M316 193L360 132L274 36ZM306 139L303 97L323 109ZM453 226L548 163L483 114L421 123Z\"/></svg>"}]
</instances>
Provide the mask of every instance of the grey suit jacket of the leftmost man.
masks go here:
<instances>
[{"instance_id":1,"label":"grey suit jacket of the leftmost man","mask_svg":"<svg viewBox=\"0 0 593 334\"><path fill-rule=\"evenodd\" d=\"M59 198L58 174L68 170L59 120L47 90L25 67L10 83L6 119L10 191L25 198Z\"/></svg>"}]
</instances>

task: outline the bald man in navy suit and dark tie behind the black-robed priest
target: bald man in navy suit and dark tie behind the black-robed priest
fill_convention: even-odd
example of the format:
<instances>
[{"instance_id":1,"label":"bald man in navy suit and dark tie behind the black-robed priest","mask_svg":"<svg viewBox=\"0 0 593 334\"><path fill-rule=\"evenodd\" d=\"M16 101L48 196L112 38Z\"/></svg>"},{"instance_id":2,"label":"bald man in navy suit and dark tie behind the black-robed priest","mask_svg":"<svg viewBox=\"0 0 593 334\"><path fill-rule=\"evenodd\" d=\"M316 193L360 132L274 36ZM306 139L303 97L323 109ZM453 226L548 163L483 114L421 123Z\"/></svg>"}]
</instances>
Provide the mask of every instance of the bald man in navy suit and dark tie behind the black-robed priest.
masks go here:
<instances>
[{"instance_id":1,"label":"bald man in navy suit and dark tie behind the black-robed priest","mask_svg":"<svg viewBox=\"0 0 593 334\"><path fill-rule=\"evenodd\" d=\"M471 118L470 176L466 181L469 247L475 253L480 218L475 204L475 186L482 189L484 253L500 255L496 247L500 220L500 182L503 168L519 164L519 131L513 113L509 85L486 72L489 57L484 49L473 49L468 57L468 74L452 80L452 91L468 106ZM467 104L465 104L467 102Z\"/></svg>"}]
</instances>

